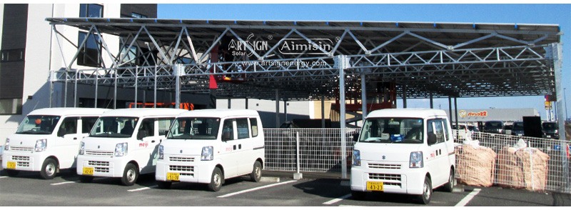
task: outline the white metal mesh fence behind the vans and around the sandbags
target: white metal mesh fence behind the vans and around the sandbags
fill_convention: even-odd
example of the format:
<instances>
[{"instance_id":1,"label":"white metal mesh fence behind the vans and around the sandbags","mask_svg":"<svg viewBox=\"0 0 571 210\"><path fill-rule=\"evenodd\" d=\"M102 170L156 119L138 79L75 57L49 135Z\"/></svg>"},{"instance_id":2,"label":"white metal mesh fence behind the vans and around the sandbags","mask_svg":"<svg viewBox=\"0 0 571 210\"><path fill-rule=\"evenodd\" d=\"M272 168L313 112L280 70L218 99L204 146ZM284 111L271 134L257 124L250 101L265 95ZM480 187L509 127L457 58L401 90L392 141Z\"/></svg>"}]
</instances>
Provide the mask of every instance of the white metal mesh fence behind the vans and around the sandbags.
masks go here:
<instances>
[{"instance_id":1,"label":"white metal mesh fence behind the vans and around the sandbags","mask_svg":"<svg viewBox=\"0 0 571 210\"><path fill-rule=\"evenodd\" d=\"M353 138L345 129L345 161L351 166ZM568 141L473 133L470 144L455 131L458 181L474 186L506 186L571 193ZM342 171L340 129L264 129L265 169L271 171ZM460 138L458 138L458 136ZM468 145L478 146L468 146ZM525 146L521 148L519 146ZM350 170L348 170L350 171Z\"/></svg>"}]
</instances>

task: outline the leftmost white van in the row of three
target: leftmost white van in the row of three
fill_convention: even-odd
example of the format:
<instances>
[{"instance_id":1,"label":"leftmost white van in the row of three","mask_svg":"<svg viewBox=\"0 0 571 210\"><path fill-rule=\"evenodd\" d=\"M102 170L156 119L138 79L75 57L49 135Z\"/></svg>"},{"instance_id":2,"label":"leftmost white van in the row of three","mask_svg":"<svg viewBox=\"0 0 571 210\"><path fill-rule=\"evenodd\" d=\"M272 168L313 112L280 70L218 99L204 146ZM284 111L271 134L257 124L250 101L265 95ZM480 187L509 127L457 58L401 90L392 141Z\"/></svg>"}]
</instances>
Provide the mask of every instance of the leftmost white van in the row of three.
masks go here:
<instances>
[{"instance_id":1,"label":"leftmost white van in the row of three","mask_svg":"<svg viewBox=\"0 0 571 210\"><path fill-rule=\"evenodd\" d=\"M76 167L79 141L89 134L103 112L96 108L45 108L31 111L6 139L2 167L8 176L40 171L54 179L59 169Z\"/></svg>"}]
</instances>

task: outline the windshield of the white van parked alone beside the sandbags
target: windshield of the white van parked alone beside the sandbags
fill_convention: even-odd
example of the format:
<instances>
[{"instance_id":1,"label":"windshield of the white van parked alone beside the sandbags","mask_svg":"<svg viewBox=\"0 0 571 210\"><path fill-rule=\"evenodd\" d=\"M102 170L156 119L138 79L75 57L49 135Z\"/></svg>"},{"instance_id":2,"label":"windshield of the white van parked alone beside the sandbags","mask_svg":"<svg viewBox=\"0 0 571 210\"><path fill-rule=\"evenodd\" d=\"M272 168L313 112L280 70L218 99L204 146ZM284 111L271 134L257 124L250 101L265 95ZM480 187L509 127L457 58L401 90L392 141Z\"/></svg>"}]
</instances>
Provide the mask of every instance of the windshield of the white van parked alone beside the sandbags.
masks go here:
<instances>
[{"instance_id":1,"label":"windshield of the white van parked alone beside the sandbags","mask_svg":"<svg viewBox=\"0 0 571 210\"><path fill-rule=\"evenodd\" d=\"M370 118L365 121L360 142L422 144L424 121L418 118Z\"/></svg>"}]
</instances>

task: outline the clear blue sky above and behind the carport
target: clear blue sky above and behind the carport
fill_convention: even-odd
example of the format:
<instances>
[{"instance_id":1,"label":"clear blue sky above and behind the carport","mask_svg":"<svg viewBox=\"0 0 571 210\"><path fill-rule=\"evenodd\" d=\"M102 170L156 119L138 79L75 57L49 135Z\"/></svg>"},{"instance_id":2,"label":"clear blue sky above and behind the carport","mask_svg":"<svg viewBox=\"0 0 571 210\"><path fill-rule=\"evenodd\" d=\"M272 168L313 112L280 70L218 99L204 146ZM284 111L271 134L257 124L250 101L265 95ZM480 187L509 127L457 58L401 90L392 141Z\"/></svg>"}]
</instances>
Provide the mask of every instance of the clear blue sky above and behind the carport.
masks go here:
<instances>
[{"instance_id":1,"label":"clear blue sky above and behind the carport","mask_svg":"<svg viewBox=\"0 0 571 210\"><path fill-rule=\"evenodd\" d=\"M158 4L158 18L558 24L564 34L562 85L571 104L571 4ZM448 99L434 104L448 109ZM408 100L408 107L429 106L428 99ZM458 99L458 109L490 107L535 108L546 116L543 96Z\"/></svg>"}]
</instances>

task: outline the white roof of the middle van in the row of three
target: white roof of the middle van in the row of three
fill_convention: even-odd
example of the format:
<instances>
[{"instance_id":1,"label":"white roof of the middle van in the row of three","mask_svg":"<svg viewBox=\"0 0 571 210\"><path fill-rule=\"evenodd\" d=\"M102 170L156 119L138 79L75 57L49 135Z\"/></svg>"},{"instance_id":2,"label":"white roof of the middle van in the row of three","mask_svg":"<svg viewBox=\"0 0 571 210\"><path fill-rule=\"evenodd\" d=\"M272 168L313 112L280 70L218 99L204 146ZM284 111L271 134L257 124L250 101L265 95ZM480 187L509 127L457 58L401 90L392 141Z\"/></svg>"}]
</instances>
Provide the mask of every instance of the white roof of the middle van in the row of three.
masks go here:
<instances>
[{"instance_id":1,"label":"white roof of the middle van in the row of three","mask_svg":"<svg viewBox=\"0 0 571 210\"><path fill-rule=\"evenodd\" d=\"M107 111L101 116L134 116L134 117L146 117L146 116L177 116L185 112L185 109L173 109L173 108L136 108L136 109L114 109Z\"/></svg>"}]
</instances>

